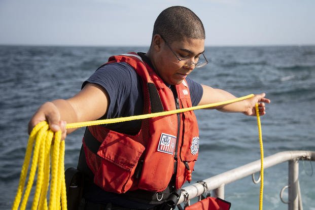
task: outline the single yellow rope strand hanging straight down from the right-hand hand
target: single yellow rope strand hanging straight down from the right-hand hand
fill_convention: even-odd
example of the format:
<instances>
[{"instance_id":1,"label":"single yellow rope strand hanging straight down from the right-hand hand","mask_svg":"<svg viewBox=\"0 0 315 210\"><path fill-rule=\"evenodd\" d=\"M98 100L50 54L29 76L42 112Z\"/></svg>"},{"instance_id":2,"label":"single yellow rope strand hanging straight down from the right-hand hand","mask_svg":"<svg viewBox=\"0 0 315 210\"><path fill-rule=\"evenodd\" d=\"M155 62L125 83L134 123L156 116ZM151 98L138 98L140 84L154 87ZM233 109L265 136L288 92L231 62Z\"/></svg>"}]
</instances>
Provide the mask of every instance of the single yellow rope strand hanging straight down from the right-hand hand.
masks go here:
<instances>
[{"instance_id":1,"label":"single yellow rope strand hanging straight down from the right-hand hand","mask_svg":"<svg viewBox=\"0 0 315 210\"><path fill-rule=\"evenodd\" d=\"M256 116L257 116L257 125L258 125L258 133L259 133L259 146L260 146L260 193L259 193L259 209L263 208L263 191L264 191L264 147L262 142L262 131L261 131L261 123L260 116L258 110L258 103L255 105Z\"/></svg>"}]
</instances>

